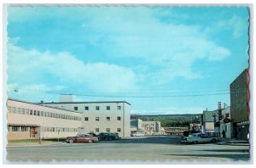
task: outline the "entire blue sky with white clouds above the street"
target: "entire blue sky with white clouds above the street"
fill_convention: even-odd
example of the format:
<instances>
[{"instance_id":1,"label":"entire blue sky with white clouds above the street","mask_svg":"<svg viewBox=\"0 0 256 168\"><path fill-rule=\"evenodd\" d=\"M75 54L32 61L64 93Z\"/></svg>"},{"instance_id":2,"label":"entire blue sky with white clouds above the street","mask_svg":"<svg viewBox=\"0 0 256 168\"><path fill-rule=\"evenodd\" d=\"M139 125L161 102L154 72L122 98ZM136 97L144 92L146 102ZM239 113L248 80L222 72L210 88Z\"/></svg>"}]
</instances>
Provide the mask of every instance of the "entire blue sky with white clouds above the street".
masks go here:
<instances>
[{"instance_id":1,"label":"entire blue sky with white clouds above the street","mask_svg":"<svg viewBox=\"0 0 256 168\"><path fill-rule=\"evenodd\" d=\"M245 7L9 7L8 96L125 100L131 113L230 105L248 67ZM17 90L18 92L15 92Z\"/></svg>"}]
</instances>

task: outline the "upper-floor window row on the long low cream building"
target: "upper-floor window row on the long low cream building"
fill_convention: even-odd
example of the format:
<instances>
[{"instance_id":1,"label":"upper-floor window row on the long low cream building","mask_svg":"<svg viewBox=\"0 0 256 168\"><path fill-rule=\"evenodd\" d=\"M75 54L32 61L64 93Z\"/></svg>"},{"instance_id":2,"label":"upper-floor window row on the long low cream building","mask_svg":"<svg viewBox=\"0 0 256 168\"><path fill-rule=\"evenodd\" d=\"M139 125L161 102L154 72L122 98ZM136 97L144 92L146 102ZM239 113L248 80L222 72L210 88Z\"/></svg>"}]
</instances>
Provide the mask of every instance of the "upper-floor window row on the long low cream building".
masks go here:
<instances>
[{"instance_id":1,"label":"upper-floor window row on the long low cream building","mask_svg":"<svg viewBox=\"0 0 256 168\"><path fill-rule=\"evenodd\" d=\"M64 119L64 120L81 120L81 117L73 116L73 115L61 115L58 113L51 113L45 111L38 111L32 109L21 109L15 107L8 107L9 113L20 114L20 115L36 115L36 116L43 116L55 119Z\"/></svg>"}]
</instances>

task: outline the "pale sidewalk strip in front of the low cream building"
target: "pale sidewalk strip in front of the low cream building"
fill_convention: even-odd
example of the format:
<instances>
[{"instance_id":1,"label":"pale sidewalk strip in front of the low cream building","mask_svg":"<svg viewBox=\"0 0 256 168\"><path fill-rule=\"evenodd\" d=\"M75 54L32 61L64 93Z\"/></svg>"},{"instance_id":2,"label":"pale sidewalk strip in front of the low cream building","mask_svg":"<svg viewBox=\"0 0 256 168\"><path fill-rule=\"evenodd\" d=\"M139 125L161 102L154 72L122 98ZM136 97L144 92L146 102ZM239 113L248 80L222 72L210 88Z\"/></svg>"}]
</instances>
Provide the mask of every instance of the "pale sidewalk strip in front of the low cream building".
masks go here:
<instances>
[{"instance_id":1,"label":"pale sidewalk strip in front of the low cream building","mask_svg":"<svg viewBox=\"0 0 256 168\"><path fill-rule=\"evenodd\" d=\"M44 142L41 143L7 143L7 148L12 147L41 147L41 146L50 146L50 145L61 145L61 144L67 144L66 142Z\"/></svg>"}]
</instances>

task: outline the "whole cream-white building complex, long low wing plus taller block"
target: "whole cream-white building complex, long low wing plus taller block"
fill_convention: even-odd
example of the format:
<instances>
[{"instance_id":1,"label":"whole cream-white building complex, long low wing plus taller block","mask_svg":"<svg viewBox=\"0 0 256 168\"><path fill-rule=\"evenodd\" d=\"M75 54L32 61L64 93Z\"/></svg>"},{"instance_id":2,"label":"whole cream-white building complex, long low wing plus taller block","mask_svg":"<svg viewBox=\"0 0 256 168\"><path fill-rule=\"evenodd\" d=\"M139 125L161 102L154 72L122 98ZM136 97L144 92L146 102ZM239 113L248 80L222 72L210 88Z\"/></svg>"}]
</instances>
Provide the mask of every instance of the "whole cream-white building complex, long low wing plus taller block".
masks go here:
<instances>
[{"instance_id":1,"label":"whole cream-white building complex, long low wing plus taller block","mask_svg":"<svg viewBox=\"0 0 256 168\"><path fill-rule=\"evenodd\" d=\"M120 101L34 104L9 98L7 137L42 139L88 132L130 137L130 105Z\"/></svg>"}]
</instances>

